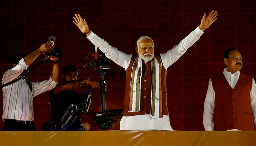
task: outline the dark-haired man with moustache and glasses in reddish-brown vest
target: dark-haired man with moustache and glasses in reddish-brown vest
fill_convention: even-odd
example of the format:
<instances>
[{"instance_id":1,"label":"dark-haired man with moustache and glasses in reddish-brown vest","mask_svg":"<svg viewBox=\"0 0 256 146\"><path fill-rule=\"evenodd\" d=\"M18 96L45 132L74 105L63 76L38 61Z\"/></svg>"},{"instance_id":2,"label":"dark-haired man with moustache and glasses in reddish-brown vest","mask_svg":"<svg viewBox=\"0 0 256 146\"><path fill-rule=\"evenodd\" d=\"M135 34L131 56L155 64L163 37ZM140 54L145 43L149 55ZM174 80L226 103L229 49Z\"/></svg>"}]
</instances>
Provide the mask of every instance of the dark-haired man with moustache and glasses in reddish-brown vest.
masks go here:
<instances>
[{"instance_id":1,"label":"dark-haired man with moustache and glasses in reddish-brown vest","mask_svg":"<svg viewBox=\"0 0 256 146\"><path fill-rule=\"evenodd\" d=\"M223 74L209 81L204 101L203 124L212 130L255 130L256 84L241 73L244 57L235 48L223 53Z\"/></svg>"}]
</instances>

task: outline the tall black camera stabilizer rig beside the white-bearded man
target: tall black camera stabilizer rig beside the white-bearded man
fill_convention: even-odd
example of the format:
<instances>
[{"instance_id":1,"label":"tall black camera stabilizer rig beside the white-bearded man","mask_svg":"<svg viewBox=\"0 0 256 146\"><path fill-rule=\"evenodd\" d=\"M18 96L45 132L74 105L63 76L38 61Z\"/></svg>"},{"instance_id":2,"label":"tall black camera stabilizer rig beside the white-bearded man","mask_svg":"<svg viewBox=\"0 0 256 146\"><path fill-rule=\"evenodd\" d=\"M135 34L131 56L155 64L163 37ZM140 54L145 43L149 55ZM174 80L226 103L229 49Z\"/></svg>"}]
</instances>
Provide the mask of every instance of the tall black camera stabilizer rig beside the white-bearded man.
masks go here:
<instances>
[{"instance_id":1,"label":"tall black camera stabilizer rig beside the white-bearded man","mask_svg":"<svg viewBox=\"0 0 256 146\"><path fill-rule=\"evenodd\" d=\"M102 112L95 112L93 115L94 123L97 124L98 128L101 130L109 129L113 126L113 123L117 121L117 119L121 119L123 116L123 109L116 109L116 110L106 110L106 100L105 100L105 87L106 81L104 79L104 75L110 69L110 59L106 57L106 55L99 50L96 46L90 47L91 52L91 62L87 65L90 68L94 68L95 72L99 72L101 80L99 82L101 87L101 97L102 97ZM88 55L88 56L89 56ZM87 57L88 57L87 56Z\"/></svg>"}]
</instances>

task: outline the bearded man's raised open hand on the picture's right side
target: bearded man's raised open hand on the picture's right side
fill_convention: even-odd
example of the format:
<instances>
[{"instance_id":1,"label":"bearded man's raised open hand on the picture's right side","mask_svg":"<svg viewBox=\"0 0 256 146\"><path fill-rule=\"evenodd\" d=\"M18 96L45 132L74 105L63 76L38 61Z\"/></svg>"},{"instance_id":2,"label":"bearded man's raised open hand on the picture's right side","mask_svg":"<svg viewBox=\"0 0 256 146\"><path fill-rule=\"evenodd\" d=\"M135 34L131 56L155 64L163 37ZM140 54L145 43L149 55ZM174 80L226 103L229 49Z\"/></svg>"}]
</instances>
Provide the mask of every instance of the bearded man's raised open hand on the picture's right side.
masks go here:
<instances>
[{"instance_id":1,"label":"bearded man's raised open hand on the picture's right side","mask_svg":"<svg viewBox=\"0 0 256 146\"><path fill-rule=\"evenodd\" d=\"M201 24L199 25L199 28L201 30L205 30L206 28L210 27L211 24L217 20L217 11L211 11L207 17L206 17L206 14L204 13L204 16L201 20Z\"/></svg>"}]
</instances>

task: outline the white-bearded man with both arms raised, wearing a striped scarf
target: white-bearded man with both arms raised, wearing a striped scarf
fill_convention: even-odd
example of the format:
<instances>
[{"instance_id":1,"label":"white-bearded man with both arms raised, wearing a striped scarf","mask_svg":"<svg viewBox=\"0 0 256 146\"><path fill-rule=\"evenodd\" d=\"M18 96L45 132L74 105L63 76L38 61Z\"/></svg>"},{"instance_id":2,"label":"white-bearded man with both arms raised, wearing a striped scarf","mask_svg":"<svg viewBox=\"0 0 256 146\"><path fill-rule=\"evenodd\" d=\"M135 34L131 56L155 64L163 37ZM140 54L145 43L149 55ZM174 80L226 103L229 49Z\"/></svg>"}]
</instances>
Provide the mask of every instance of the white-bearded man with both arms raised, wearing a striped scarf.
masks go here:
<instances>
[{"instance_id":1,"label":"white-bearded man with both arms raised, wearing a striped scarf","mask_svg":"<svg viewBox=\"0 0 256 146\"><path fill-rule=\"evenodd\" d=\"M207 16L204 14L199 27L167 53L155 55L153 39L142 36L135 47L138 55L132 55L110 46L89 29L79 14L75 14L73 22L87 35L87 39L126 71L120 130L173 130L167 108L166 70L217 20L217 15L216 11Z\"/></svg>"}]
</instances>

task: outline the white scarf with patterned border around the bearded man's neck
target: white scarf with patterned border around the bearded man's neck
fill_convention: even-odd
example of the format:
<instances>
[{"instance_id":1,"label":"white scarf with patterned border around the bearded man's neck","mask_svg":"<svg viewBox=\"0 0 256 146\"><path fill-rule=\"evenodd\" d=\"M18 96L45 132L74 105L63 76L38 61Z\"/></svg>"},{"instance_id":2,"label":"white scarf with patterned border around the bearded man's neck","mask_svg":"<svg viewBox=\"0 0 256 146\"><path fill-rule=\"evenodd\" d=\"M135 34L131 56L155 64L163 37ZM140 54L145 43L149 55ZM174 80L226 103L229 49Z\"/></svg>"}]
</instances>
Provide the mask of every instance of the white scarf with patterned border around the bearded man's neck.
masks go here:
<instances>
[{"instance_id":1,"label":"white scarf with patterned border around the bearded man's neck","mask_svg":"<svg viewBox=\"0 0 256 146\"><path fill-rule=\"evenodd\" d=\"M162 62L159 57L151 61L151 117L162 118ZM132 65L129 112L140 111L142 59L136 58Z\"/></svg>"}]
</instances>

